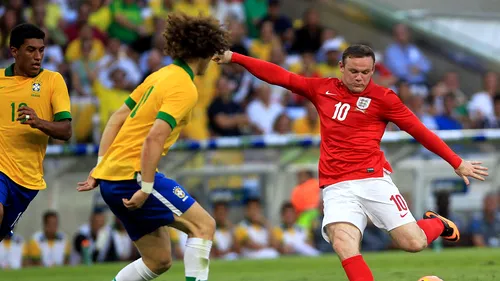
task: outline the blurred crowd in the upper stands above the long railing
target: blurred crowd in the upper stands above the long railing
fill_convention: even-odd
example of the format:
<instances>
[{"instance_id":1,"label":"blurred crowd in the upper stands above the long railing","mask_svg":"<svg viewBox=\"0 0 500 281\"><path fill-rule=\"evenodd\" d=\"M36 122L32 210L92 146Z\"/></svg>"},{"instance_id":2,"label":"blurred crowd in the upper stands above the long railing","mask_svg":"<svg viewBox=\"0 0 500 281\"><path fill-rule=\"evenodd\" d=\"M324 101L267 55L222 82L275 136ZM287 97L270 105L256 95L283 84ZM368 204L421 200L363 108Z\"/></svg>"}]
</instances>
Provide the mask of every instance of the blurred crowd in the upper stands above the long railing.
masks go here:
<instances>
[{"instance_id":1,"label":"blurred crowd in the upper stands above the long railing","mask_svg":"<svg viewBox=\"0 0 500 281\"><path fill-rule=\"evenodd\" d=\"M26 3L29 2L29 3ZM162 32L170 12L212 15L231 31L232 50L308 77L339 77L348 46L314 9L293 19L279 0L8 0L0 8L0 66L13 62L9 31L32 22L46 32L43 67L66 80L74 117L73 142L98 143L109 116L147 75L168 65ZM433 66L404 25L376 50L375 82L391 87L431 129L499 128L498 75L464 93L456 72L429 83ZM365 43L366 42L361 42ZM369 45L369 43L368 43ZM210 65L195 83L200 100L183 138L260 134L319 134L314 106L256 79L238 65ZM397 130L389 126L388 130Z\"/></svg>"}]
</instances>

